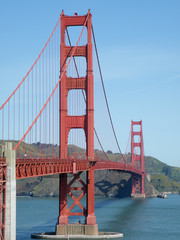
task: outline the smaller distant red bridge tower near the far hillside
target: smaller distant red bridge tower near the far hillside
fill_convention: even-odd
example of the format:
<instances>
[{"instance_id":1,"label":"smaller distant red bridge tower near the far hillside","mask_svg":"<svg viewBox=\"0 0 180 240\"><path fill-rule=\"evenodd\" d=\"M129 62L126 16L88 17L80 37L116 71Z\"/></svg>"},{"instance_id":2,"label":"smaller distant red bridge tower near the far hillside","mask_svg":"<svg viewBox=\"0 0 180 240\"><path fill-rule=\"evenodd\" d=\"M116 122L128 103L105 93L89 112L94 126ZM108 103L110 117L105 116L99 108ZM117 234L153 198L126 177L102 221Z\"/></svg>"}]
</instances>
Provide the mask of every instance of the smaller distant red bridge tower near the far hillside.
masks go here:
<instances>
[{"instance_id":1,"label":"smaller distant red bridge tower near the far hillside","mask_svg":"<svg viewBox=\"0 0 180 240\"><path fill-rule=\"evenodd\" d=\"M134 129L136 126L137 129ZM131 160L132 168L139 169L142 175L132 174L132 197L145 197L144 193L144 150L142 121L131 121Z\"/></svg>"}]
</instances>

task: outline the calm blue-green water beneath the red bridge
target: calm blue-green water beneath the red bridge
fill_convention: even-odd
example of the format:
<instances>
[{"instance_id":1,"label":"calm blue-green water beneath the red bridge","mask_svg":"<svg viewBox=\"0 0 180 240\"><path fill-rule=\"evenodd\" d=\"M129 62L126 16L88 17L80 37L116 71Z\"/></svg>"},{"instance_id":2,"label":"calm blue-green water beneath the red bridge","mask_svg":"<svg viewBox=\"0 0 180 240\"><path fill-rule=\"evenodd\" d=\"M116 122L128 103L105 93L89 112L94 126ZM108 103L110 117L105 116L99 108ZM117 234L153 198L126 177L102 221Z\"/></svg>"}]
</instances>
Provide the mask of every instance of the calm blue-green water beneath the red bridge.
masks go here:
<instances>
[{"instance_id":1,"label":"calm blue-green water beneath the red bridge","mask_svg":"<svg viewBox=\"0 0 180 240\"><path fill-rule=\"evenodd\" d=\"M95 208L99 230L121 232L121 239L180 239L180 195L144 200L96 198ZM30 240L34 232L54 231L57 216L57 198L18 197L17 240Z\"/></svg>"}]
</instances>

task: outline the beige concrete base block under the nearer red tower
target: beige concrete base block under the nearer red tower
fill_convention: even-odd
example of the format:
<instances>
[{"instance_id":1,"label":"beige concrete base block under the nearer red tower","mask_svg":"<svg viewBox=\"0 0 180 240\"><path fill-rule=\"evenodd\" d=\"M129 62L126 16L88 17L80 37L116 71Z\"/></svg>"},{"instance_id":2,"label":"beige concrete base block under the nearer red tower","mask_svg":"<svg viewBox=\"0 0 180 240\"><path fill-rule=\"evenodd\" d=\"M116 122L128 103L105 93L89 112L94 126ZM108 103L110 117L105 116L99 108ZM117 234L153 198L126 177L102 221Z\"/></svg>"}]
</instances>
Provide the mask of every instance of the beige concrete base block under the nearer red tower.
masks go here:
<instances>
[{"instance_id":1,"label":"beige concrete base block under the nearer red tower","mask_svg":"<svg viewBox=\"0 0 180 240\"><path fill-rule=\"evenodd\" d=\"M98 235L98 225L68 224L57 225L56 235Z\"/></svg>"}]
</instances>

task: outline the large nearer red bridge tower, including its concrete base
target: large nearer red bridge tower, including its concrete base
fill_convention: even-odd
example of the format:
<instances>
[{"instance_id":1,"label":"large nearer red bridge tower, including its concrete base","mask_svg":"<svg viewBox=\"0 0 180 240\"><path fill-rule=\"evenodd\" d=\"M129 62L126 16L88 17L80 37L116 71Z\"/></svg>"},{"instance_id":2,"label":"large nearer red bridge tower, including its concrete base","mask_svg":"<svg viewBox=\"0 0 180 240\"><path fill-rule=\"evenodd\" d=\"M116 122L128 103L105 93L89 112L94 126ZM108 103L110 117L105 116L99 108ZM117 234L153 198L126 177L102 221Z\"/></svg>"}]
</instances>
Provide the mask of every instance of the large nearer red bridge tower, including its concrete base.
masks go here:
<instances>
[{"instance_id":1,"label":"large nearer red bridge tower, including its concrete base","mask_svg":"<svg viewBox=\"0 0 180 240\"><path fill-rule=\"evenodd\" d=\"M73 179L68 183L67 174L60 174L60 197L59 197L59 218L56 226L57 235L97 235L98 226L94 213L94 79L93 79L93 60L92 60L92 22L91 13L87 15L74 16L61 14L61 84L60 84L60 159L67 159L68 134L71 129L83 129L86 138L86 158L90 162L90 169L86 172L86 181L81 178L82 172L77 172L74 166ZM67 46L65 30L68 26L83 26L86 21L87 44L84 46ZM74 51L75 50L75 51ZM86 77L70 78L66 74L66 63L68 57L85 57L87 64ZM67 97L71 89L82 89L86 93L86 114L83 116L68 115ZM82 187L74 187L78 181ZM79 197L74 194L81 191ZM69 195L73 203L67 205ZM86 207L82 206L80 200L86 195ZM78 206L81 212L72 212ZM68 208L69 207L69 208ZM84 216L85 224L69 224L69 216Z\"/></svg>"}]
</instances>

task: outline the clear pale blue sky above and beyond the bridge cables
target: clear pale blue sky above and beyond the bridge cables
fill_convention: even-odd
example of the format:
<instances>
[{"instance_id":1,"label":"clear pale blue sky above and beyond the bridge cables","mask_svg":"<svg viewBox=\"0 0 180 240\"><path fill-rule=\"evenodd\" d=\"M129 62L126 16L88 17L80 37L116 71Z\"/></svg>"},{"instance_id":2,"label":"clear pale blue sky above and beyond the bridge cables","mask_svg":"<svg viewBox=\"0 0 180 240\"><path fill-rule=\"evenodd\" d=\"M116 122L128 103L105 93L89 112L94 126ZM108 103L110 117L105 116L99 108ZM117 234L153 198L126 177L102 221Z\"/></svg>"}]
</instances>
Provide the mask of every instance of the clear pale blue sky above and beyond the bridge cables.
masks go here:
<instances>
[{"instance_id":1,"label":"clear pale blue sky above and beyond the bridge cables","mask_svg":"<svg viewBox=\"0 0 180 240\"><path fill-rule=\"evenodd\" d=\"M0 105L35 61L62 9L67 15L91 9L122 151L131 120L142 120L145 155L180 167L179 0L1 1ZM103 114L96 128L103 127L105 150L117 152Z\"/></svg>"}]
</instances>

